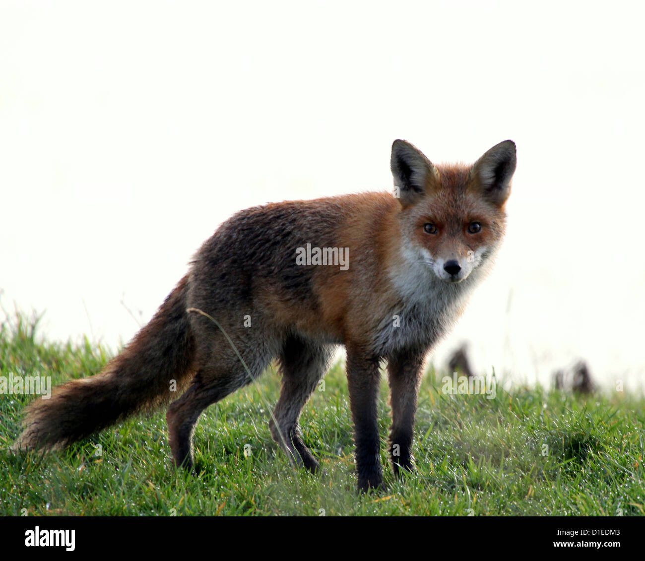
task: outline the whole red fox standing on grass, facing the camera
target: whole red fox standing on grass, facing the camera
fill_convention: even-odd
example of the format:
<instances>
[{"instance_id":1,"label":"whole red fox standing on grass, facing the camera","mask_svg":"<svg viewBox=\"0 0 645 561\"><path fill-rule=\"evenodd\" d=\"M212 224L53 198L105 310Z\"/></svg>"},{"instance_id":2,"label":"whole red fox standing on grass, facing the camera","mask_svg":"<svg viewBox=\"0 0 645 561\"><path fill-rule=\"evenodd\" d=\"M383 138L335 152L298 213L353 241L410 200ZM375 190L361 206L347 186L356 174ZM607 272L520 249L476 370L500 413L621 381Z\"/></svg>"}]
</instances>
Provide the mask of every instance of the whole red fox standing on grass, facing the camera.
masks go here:
<instances>
[{"instance_id":1,"label":"whole red fox standing on grass, facing the camera","mask_svg":"<svg viewBox=\"0 0 645 561\"><path fill-rule=\"evenodd\" d=\"M235 214L103 371L26 408L14 449L88 437L169 402L179 395L171 391L175 383L184 393L166 413L170 448L176 466L192 469L202 411L277 359L282 388L272 436L295 464L315 472L299 417L342 344L359 490L382 487L377 395L384 361L393 470L413 471L424 359L499 248L515 154L515 143L504 141L471 166L435 166L397 140L390 162L395 196L278 202Z\"/></svg>"}]
</instances>

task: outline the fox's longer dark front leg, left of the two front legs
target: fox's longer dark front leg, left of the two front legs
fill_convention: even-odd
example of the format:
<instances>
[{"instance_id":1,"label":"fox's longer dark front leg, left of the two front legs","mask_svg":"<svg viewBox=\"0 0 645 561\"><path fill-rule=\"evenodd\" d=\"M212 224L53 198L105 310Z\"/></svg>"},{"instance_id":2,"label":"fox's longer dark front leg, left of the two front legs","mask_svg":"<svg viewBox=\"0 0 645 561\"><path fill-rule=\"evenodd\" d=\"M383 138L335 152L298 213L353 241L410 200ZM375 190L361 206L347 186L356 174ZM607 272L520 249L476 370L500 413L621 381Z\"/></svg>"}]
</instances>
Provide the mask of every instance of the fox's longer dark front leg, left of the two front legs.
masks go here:
<instances>
[{"instance_id":1,"label":"fox's longer dark front leg, left of the two front legs","mask_svg":"<svg viewBox=\"0 0 645 561\"><path fill-rule=\"evenodd\" d=\"M380 378L378 359L365 355L360 349L347 349L347 382L354 422L359 491L381 489L383 486L377 422Z\"/></svg>"}]
</instances>

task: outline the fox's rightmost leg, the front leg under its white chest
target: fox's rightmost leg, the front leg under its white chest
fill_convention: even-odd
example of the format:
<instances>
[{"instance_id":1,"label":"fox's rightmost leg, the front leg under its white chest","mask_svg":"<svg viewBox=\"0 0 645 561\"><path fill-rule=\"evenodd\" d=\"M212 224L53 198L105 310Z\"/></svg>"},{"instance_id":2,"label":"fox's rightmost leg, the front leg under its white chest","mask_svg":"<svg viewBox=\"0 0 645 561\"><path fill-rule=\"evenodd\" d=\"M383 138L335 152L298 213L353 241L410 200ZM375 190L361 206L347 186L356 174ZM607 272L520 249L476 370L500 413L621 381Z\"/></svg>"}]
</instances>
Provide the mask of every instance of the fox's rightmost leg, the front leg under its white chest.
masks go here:
<instances>
[{"instance_id":1,"label":"fox's rightmost leg, the front leg under its white chest","mask_svg":"<svg viewBox=\"0 0 645 561\"><path fill-rule=\"evenodd\" d=\"M401 352L388 361L388 381L392 392L390 456L397 475L401 468L414 469L412 439L423 360L424 355L420 353Z\"/></svg>"}]
</instances>

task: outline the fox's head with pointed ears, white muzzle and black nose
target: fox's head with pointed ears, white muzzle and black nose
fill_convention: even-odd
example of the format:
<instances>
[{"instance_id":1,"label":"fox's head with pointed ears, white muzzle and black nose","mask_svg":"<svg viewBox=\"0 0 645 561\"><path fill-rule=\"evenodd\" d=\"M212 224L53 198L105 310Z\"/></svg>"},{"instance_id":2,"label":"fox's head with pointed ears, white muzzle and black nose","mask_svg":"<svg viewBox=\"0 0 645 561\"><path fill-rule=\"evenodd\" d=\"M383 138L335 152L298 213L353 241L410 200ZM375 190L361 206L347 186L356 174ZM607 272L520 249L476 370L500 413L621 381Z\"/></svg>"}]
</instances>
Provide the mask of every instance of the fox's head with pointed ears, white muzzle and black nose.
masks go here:
<instances>
[{"instance_id":1,"label":"fox's head with pointed ears, white muzzle and black nose","mask_svg":"<svg viewBox=\"0 0 645 561\"><path fill-rule=\"evenodd\" d=\"M510 140L471 166L435 166L412 144L394 141L391 167L406 254L445 282L467 279L504 235L515 164Z\"/></svg>"}]
</instances>

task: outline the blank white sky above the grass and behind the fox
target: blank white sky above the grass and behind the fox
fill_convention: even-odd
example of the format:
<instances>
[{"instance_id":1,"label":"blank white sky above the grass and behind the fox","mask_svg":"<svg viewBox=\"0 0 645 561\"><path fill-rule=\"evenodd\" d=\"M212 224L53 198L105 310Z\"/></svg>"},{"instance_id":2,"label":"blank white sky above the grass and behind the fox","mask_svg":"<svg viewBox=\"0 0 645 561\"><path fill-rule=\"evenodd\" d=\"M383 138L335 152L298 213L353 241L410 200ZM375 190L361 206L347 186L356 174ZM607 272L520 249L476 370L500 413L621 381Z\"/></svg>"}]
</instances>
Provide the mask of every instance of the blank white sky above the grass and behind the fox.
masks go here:
<instances>
[{"instance_id":1,"label":"blank white sky above the grass and behind the fox","mask_svg":"<svg viewBox=\"0 0 645 561\"><path fill-rule=\"evenodd\" d=\"M490 277L432 354L645 386L642 3L0 0L0 303L117 348L230 215L517 144Z\"/></svg>"}]
</instances>

